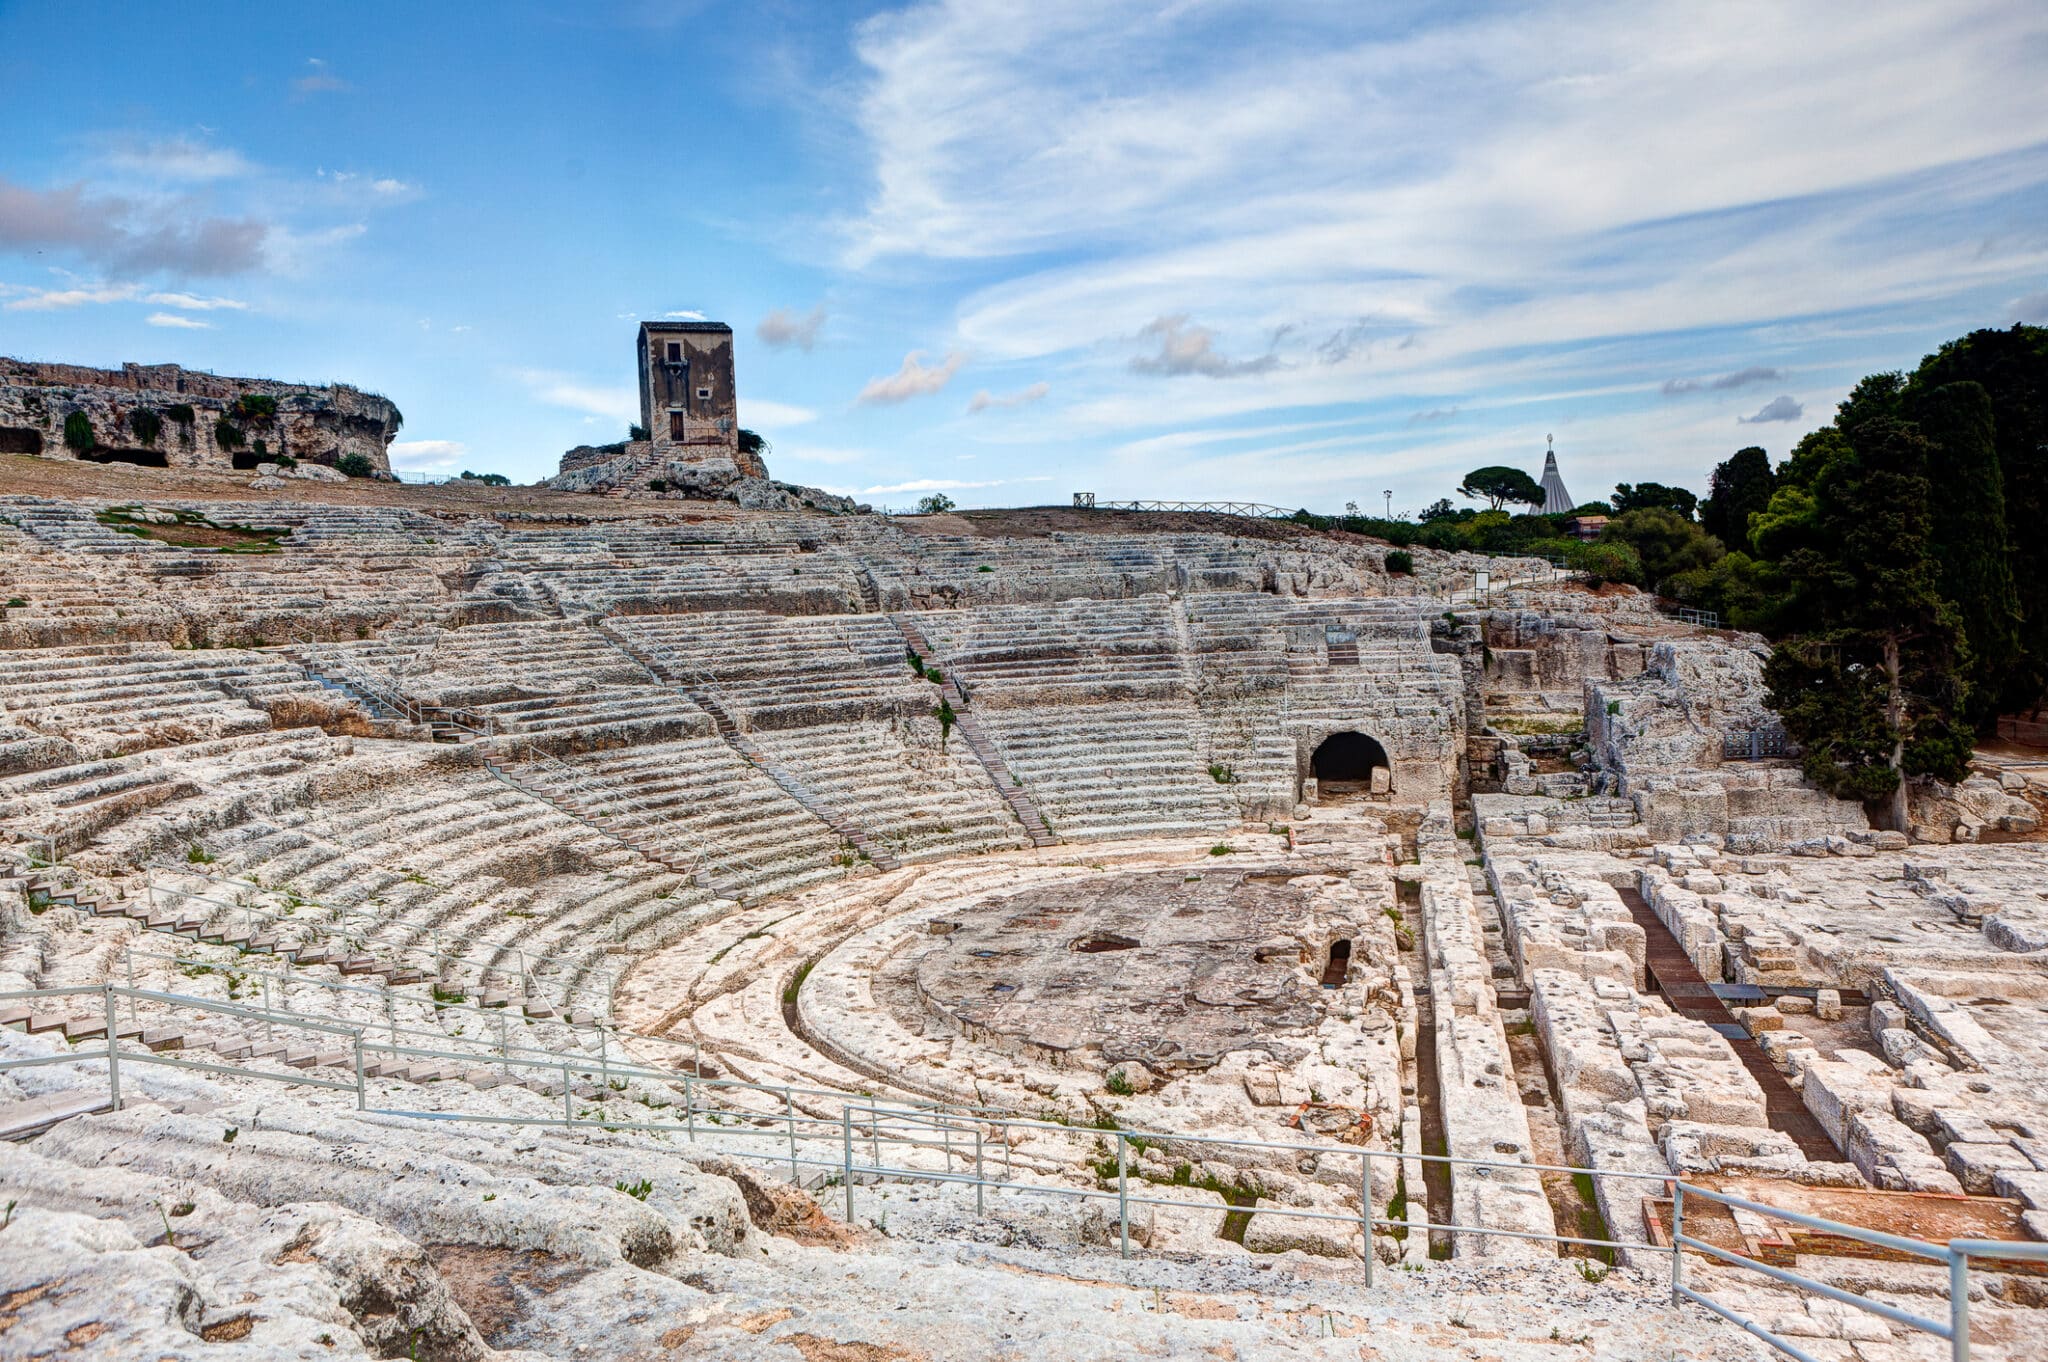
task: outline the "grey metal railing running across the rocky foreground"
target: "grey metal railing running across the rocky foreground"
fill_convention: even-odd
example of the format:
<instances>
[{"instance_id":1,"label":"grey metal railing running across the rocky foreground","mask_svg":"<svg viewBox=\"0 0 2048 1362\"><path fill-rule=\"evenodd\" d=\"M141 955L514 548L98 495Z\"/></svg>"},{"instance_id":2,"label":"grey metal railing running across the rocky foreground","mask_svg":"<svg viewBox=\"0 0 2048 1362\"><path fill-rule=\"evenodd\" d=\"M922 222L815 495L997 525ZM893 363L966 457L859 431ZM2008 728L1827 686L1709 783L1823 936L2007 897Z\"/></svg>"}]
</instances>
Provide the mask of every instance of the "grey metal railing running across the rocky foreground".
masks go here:
<instances>
[{"instance_id":1,"label":"grey metal railing running across the rocky foreground","mask_svg":"<svg viewBox=\"0 0 2048 1362\"><path fill-rule=\"evenodd\" d=\"M1669 1247L1669 1270L1671 1270L1671 1301L1673 1305L1690 1301L1700 1305L1714 1315L1735 1323L1757 1339L1769 1344L1772 1348L1784 1352L1798 1362L1819 1362L1808 1352L1800 1350L1790 1339L1774 1333L1772 1329L1759 1325L1757 1321L1745 1317L1743 1313L1710 1299L1708 1294L1692 1288L1686 1282L1686 1260L1688 1249L1724 1262L1729 1266L1741 1268L1745 1272L1757 1272L1763 1278L1790 1286L1804 1294L1815 1294L1827 1301L1837 1301L1849 1305L1890 1323L1931 1333L1950 1344L1950 1356L1954 1362L1968 1362L1970 1358L1970 1262L1972 1260L2021 1260L2048 1264L2048 1243L2015 1243L2003 1239L1952 1239L1944 1243L1929 1243L1921 1239L1911 1239L1905 1235L1892 1235L1874 1229L1862 1229L1855 1225L1843 1225L1839 1221L1829 1221L1823 1217L1804 1215L1798 1210L1788 1210L1782 1206L1772 1206L1765 1202L1749 1200L1714 1188L1698 1186L1686 1182L1683 1178L1669 1174L1638 1174L1638 1172L1618 1172L1618 1169L1583 1169L1567 1165L1548 1163L1522 1163L1522 1161L1491 1161L1491 1159L1466 1159L1452 1155L1427 1155L1427 1153L1407 1153L1397 1149L1366 1149L1358 1145L1317 1145L1317 1143L1286 1143L1286 1141L1247 1141L1247 1139L1227 1139L1214 1135L1190 1135L1180 1131L1122 1131L1122 1129L1098 1129L1098 1126L1073 1126L1053 1120L1032 1120L1008 1116L987 1108L965 1108L965 1106L944 1106L944 1104L881 1104L870 1096L844 1094L834 1090L817 1088L797 1088L797 1086L772 1086L772 1083L741 1083L733 1079L705 1079L694 1073L694 1067L684 1073L651 1069L647 1065L623 1061L612 1063L608 1057L598 1057L596 1063L588 1055L559 1055L559 1053L535 1053L524 1055L461 1055L444 1049L432 1047L412 1047L401 1042L379 1042L371 1040L362 1026L336 1024L326 1020L313 1020L297 1014L274 1014L258 1008L248 1008L240 1004L223 1004L215 999L197 999L176 993L160 993L152 989L125 989L119 985L98 985L98 987L55 987L55 989L27 989L14 993L0 993L0 1004L8 1002L55 1002L63 997L96 997L100 999L102 1022L98 1030L82 1028L82 1038L92 1038L98 1034L102 1038L96 1051L68 1051L59 1055L33 1055L0 1061L0 1071L39 1067L53 1063L76 1063L76 1061L106 1061L106 1081L109 1096L115 1108L121 1106L121 1069L123 1065L143 1063L143 1065L168 1065L178 1069L193 1069L203 1073L215 1073L225 1077L244 1077L258 1081L276 1081L287 1086L303 1086L330 1092L354 1092L356 1108L383 1116L408 1116L422 1120L444 1120L444 1122L473 1122L473 1124L510 1124L510 1126L555 1126L555 1129L604 1129L604 1131L651 1131L668 1135L684 1135L690 1143L700 1139L752 1139L768 1141L774 1151L764 1151L760 1147L729 1149L733 1157L758 1159L774 1165L786 1165L791 1180L803 1180L803 1169L813 1169L823 1182L838 1182L844 1188L846 1217L854 1219L854 1190L862 1180L895 1180L895 1182L932 1182L950 1186L973 1186L975 1188L975 1208L977 1215L985 1212L985 1198L989 1192L1018 1194L1018 1196L1061 1196L1079 1200L1114 1200L1116 1202L1116 1223L1118 1223L1118 1247L1124 1255L1130 1253L1130 1210L1133 1206L1165 1206L1184 1208L1186 1202L1151 1196L1149 1188L1157 1182L1157 1174L1133 1176L1137 1161L1135 1153L1145 1153L1147 1149L1161 1149L1171 1153L1188 1153L1188 1163L1200 1149L1241 1149L1241 1151L1264 1151L1288 1161L1300 1163L1303 1159L1358 1159L1358 1210L1319 1210L1300 1206L1255 1206L1255 1215L1278 1217L1278 1219L1305 1219L1305 1221L1327 1221L1352 1225L1360 1231L1360 1253L1366 1282L1372 1282L1376 1251L1374 1233L1417 1233L1417 1231L1444 1231L1450 1235L1475 1235L1475 1237L1499 1237L1499 1239L1522 1239L1554 1245L1579 1245L1591 1249L1608 1249L1620 1253L1655 1253L1653 1245L1632 1243L1622 1239L1593 1239L1585 1235L1546 1235L1534 1231L1513 1231L1491 1225L1458 1225L1458 1223L1438 1223L1427 1221L1401 1221L1376 1210L1376 1165L1393 1163L1395 1178L1399 1180L1399 1165L1403 1163L1438 1163L1452 1172L1475 1169L1477 1176L1487 1176L1491 1172L1503 1174L1542 1174L1561 1172L1571 1176L1585 1176L1591 1180L1624 1180L1638 1184L1657 1184L1669 1188L1671 1192L1671 1247ZM299 1061L309 1063L309 1067L336 1067L346 1063L352 1067L352 1081L338 1081L328 1077L313 1077L303 1069L295 1071L274 1071L274 1069L254 1069L244 1065L223 1065L205 1063L195 1059L174 1059L172 1055L160 1055L150 1051L137 1051L133 1047L123 1047L123 1028L119 1026L119 1002L129 999L133 1004L152 1004L168 1010L193 1010L201 1014L227 1016L231 1020L244 1022L264 1022L281 1024L315 1036L330 1047L317 1051L307 1059L299 1055ZM127 1028L133 1034L133 1026ZM545 1071L551 1079L559 1075L563 1110L561 1116L496 1116L481 1112L461 1112L461 1110L436 1110L420 1112L393 1106L373 1106L369 1092L367 1069L377 1063L377 1059L393 1061L436 1061L436 1063L465 1063L477 1065L485 1063L489 1067L506 1071ZM293 1061L287 1061L293 1063ZM578 1110L578 1079L594 1079L598 1086L592 1094L594 1108L586 1106ZM606 1100L612 1092L618 1092L631 1079L653 1079L668 1083L670 1088L682 1088L682 1116L678 1118L627 1118L606 1108ZM805 1098L805 1106L799 1106L799 1094ZM725 1100L721 1100L725 1098ZM733 1098L752 1098L754 1106L733 1106ZM815 1114L807 1110L815 1106L815 1098L823 1098L827 1110ZM831 1112L829 1108L838 1110ZM1073 1186L1057 1182L1030 1182L1018 1178L1016 1172L1016 1149L1024 1143L1020 1137L1055 1137L1069 1141L1085 1141L1096 1151L1108 1149L1114 1141L1114 1178L1108 1174L1108 1153L1096 1163L1096 1184L1094 1186ZM1001 1174L991 1174L989 1169L989 1143L1001 1149ZM819 1147L827 1157L819 1157ZM887 1151L887 1153L885 1153ZM866 1157L856 1157L864 1153ZM922 1163L918 1161L922 1159ZM1085 1153L1079 1157L1079 1165L1094 1163ZM1053 1174L1065 1169L1071 1174L1075 1161L1061 1161L1053 1165ZM1182 1186L1178 1180L1167 1180L1167 1186ZM1114 1186L1114 1190L1112 1190ZM1905 1258L1927 1260L1933 1264L1944 1264L1948 1268L1948 1319L1929 1319L1915 1315L1903 1307L1890 1305L1888 1301L1876 1301L1860 1292L1835 1286L1831 1282L1821 1282L1812 1276L1792 1272L1788 1268L1776 1268L1743 1253L1735 1253L1720 1245L1708 1243L1686 1233L1686 1200L1708 1200L1731 1208L1749 1210L1776 1221L1786 1221L1790 1225L1802 1225L1829 1235L1841 1235L1872 1247L1888 1249Z\"/></svg>"}]
</instances>

